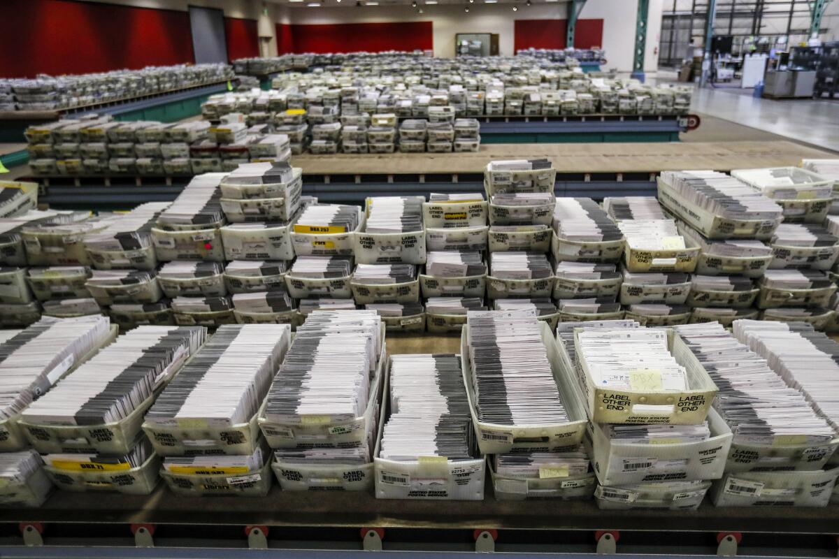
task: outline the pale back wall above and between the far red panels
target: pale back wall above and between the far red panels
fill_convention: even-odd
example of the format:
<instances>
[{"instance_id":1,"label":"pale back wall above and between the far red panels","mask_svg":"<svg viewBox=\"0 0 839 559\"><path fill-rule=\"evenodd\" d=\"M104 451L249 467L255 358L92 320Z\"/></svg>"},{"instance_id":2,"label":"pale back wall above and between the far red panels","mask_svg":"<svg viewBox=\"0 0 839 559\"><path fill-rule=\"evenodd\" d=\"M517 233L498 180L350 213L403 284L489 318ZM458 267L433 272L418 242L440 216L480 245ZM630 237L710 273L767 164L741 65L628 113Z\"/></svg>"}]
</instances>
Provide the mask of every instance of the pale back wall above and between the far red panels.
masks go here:
<instances>
[{"instance_id":1,"label":"pale back wall above and between the far red panels","mask_svg":"<svg viewBox=\"0 0 839 559\"><path fill-rule=\"evenodd\" d=\"M658 60L651 51L658 45L660 2L652 0L649 11L650 27L656 29L656 33L648 34L649 70L655 69ZM417 13L408 6L294 7L289 8L288 13L290 23L304 24L431 21L434 24L434 55L438 57L454 56L457 33L497 33L499 54L510 56L513 54L515 19L565 19L568 15L565 3L540 3L534 6L520 3L518 12L513 12L510 4L484 4L480 0L469 5L469 13L464 12L464 7L465 4L423 6L424 13ZM588 0L582 9L580 18L603 19L602 47L606 49L608 68L625 72L632 70L637 15L637 0Z\"/></svg>"}]
</instances>

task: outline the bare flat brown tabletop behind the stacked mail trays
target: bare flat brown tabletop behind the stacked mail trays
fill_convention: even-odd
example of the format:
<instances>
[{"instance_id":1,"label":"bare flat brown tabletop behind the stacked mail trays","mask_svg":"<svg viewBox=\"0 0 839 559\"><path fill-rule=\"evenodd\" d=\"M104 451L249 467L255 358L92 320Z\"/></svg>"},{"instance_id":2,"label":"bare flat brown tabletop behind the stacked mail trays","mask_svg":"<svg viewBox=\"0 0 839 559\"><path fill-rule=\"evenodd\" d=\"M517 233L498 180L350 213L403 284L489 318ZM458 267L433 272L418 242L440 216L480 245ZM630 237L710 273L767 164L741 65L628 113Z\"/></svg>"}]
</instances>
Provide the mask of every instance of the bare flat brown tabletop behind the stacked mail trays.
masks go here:
<instances>
[{"instance_id":1,"label":"bare flat brown tabletop behind the stacked mail trays","mask_svg":"<svg viewBox=\"0 0 839 559\"><path fill-rule=\"evenodd\" d=\"M549 158L558 173L783 167L835 154L794 142L497 143L477 153L295 155L304 174L483 173L493 159Z\"/></svg>"}]
</instances>

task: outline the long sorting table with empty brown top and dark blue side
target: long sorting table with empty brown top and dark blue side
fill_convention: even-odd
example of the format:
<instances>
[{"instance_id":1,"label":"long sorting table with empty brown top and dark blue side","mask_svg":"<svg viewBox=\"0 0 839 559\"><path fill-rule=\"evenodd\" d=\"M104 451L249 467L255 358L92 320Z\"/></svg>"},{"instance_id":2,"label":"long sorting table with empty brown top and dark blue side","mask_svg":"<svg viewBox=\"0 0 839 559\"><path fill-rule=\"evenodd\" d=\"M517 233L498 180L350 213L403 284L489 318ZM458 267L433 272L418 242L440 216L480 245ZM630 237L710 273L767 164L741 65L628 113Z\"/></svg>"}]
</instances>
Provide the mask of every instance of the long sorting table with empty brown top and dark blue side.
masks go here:
<instances>
[{"instance_id":1,"label":"long sorting table with empty brown top and dark blue side","mask_svg":"<svg viewBox=\"0 0 839 559\"><path fill-rule=\"evenodd\" d=\"M663 170L758 168L798 165L831 153L793 142L492 144L477 153L296 155L303 194L322 202L362 204L367 196L482 192L483 171L493 159L549 158L557 196L655 194ZM596 170L595 170L596 169ZM42 184L39 201L56 208L122 209L170 201L190 177L29 177Z\"/></svg>"}]
</instances>

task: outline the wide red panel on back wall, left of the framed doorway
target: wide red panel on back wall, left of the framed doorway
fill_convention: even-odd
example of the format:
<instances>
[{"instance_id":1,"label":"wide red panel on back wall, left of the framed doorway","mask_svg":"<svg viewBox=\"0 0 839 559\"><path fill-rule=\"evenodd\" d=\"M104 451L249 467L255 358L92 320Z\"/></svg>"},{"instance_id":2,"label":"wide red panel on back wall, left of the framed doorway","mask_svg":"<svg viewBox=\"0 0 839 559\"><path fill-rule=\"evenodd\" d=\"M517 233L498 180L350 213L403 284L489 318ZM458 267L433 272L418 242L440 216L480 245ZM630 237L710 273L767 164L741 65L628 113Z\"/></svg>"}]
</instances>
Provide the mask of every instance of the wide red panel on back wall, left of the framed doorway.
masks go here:
<instances>
[{"instance_id":1,"label":"wide red panel on back wall, left of the framed doorway","mask_svg":"<svg viewBox=\"0 0 839 559\"><path fill-rule=\"evenodd\" d=\"M277 46L281 54L433 49L434 34L430 21L312 25L279 23Z\"/></svg>"}]
</instances>

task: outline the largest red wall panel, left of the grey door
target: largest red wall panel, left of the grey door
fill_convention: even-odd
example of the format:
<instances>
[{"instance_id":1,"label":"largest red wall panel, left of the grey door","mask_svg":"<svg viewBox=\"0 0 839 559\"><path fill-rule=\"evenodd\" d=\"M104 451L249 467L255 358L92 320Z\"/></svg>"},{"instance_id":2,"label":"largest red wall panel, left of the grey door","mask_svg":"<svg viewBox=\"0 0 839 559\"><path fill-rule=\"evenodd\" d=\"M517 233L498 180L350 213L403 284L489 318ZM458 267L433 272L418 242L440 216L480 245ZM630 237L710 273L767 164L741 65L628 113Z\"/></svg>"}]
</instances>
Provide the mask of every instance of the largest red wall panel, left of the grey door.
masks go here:
<instances>
[{"instance_id":1,"label":"largest red wall panel, left of the grey door","mask_svg":"<svg viewBox=\"0 0 839 559\"><path fill-rule=\"evenodd\" d=\"M193 62L186 12L70 0L3 0L0 76Z\"/></svg>"}]
</instances>

